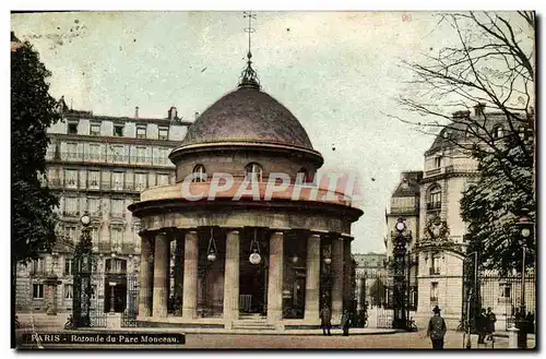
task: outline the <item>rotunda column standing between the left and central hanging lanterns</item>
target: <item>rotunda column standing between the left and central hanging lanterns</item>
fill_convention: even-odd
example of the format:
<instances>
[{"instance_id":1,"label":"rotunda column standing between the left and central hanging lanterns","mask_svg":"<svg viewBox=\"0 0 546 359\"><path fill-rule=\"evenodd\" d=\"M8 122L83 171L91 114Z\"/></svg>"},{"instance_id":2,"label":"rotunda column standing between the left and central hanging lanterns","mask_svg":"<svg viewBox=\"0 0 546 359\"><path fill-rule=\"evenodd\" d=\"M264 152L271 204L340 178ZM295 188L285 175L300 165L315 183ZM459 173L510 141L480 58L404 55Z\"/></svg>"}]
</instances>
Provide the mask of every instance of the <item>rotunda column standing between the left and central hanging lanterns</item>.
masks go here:
<instances>
[{"instance_id":1,"label":"rotunda column standing between the left and central hanging lanterns","mask_svg":"<svg viewBox=\"0 0 546 359\"><path fill-rule=\"evenodd\" d=\"M226 265L224 272L224 321L226 328L239 316L239 231L226 237Z\"/></svg>"}]
</instances>

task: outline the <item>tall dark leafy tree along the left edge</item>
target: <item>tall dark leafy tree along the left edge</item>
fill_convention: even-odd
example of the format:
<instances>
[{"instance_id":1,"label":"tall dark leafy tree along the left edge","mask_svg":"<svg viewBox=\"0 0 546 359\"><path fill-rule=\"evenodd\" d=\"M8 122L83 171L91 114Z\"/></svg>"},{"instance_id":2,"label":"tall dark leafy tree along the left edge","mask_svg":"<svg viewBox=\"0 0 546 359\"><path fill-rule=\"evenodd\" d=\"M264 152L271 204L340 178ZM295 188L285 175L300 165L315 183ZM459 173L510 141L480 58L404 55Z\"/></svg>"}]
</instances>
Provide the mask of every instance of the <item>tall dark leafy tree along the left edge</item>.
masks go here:
<instances>
[{"instance_id":1,"label":"tall dark leafy tree along the left edge","mask_svg":"<svg viewBox=\"0 0 546 359\"><path fill-rule=\"evenodd\" d=\"M12 33L11 158L12 267L27 263L55 243L58 200L43 186L46 129L60 119L58 104L48 93L50 72L38 52ZM15 273L13 273L15 274ZM15 275L14 275L15 276Z\"/></svg>"}]
</instances>

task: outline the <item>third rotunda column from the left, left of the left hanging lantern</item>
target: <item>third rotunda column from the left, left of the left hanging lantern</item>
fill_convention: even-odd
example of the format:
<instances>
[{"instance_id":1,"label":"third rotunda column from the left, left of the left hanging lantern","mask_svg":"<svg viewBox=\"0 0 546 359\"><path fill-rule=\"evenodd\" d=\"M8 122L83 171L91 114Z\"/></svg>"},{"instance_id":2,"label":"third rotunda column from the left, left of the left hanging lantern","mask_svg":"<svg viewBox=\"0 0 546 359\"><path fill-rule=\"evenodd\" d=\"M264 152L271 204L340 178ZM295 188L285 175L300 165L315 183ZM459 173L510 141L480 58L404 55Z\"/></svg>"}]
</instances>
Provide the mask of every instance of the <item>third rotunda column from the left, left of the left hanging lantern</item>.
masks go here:
<instances>
[{"instance_id":1,"label":"third rotunda column from the left, left of the left hanging lantern","mask_svg":"<svg viewBox=\"0 0 546 359\"><path fill-rule=\"evenodd\" d=\"M193 319L198 307L199 246L197 231L186 234L185 247L182 318Z\"/></svg>"}]
</instances>

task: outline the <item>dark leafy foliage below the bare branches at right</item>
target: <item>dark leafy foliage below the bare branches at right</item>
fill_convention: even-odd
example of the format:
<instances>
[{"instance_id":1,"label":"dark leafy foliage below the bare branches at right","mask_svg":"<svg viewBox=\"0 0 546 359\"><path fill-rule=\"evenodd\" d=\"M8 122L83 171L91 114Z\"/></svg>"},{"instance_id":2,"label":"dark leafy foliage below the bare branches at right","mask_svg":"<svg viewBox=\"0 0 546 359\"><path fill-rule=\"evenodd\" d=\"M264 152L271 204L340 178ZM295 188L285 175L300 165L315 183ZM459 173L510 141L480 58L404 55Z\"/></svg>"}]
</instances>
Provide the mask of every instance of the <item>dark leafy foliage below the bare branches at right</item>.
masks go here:
<instances>
[{"instance_id":1,"label":"dark leafy foliage below the bare branches at right","mask_svg":"<svg viewBox=\"0 0 546 359\"><path fill-rule=\"evenodd\" d=\"M479 158L480 178L463 193L461 200L461 215L468 224L471 236L467 251L477 251L485 268L502 274L511 268L521 271L523 250L526 250L526 267L533 267L536 259L535 237L531 236L523 243L521 227L514 225L522 216L532 222L536 219L533 194L524 190L533 188L532 164L514 165L522 164L526 156L520 151L520 146L513 144L513 139L505 141L502 153L507 159L502 164L492 154L475 154ZM532 153L533 137L525 139L524 143ZM503 168L499 168L500 166ZM514 186L503 175L507 168L520 186Z\"/></svg>"}]
</instances>

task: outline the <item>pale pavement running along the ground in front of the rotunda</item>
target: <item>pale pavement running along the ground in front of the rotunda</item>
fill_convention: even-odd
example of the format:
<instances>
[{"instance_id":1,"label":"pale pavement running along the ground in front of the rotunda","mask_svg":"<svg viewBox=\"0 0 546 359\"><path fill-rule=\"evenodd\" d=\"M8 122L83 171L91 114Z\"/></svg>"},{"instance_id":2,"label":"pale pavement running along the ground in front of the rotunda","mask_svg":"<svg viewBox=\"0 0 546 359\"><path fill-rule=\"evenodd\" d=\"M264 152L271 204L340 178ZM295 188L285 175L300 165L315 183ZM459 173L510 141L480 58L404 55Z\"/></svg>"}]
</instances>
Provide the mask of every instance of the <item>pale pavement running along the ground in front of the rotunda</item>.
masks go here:
<instances>
[{"instance_id":1,"label":"pale pavement running along the ground in front of the rotunda","mask_svg":"<svg viewBox=\"0 0 546 359\"><path fill-rule=\"evenodd\" d=\"M477 347L477 337L473 336L474 349L491 349L490 345ZM534 340L530 340L530 348L534 347ZM46 345L52 348L52 345ZM67 346L56 346L66 348ZM396 333L383 335L341 336L334 333L332 336L288 336L288 335L223 335L223 334L188 334L186 345L162 345L140 346L145 349L429 349L430 340L424 337L424 333ZM72 346L74 349L106 349L106 346L80 345ZM134 348L117 345L116 349ZM462 349L463 335L456 332L448 332L446 335L446 349ZM496 338L496 349L508 348L508 338Z\"/></svg>"}]
</instances>

